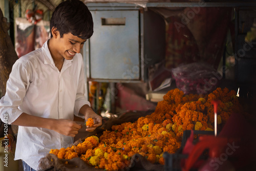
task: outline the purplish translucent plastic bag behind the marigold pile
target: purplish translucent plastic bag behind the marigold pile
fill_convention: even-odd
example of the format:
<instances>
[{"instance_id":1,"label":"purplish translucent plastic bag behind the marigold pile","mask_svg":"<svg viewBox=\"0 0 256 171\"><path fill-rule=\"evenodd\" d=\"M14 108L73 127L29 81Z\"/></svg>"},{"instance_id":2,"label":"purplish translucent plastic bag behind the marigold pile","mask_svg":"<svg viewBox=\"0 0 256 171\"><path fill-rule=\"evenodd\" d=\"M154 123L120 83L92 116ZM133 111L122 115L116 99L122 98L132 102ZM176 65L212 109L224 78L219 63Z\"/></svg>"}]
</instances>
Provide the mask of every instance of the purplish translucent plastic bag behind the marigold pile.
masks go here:
<instances>
[{"instance_id":1,"label":"purplish translucent plastic bag behind the marigold pile","mask_svg":"<svg viewBox=\"0 0 256 171\"><path fill-rule=\"evenodd\" d=\"M222 76L207 63L194 62L172 69L178 89L184 94L207 94L214 91Z\"/></svg>"}]
</instances>

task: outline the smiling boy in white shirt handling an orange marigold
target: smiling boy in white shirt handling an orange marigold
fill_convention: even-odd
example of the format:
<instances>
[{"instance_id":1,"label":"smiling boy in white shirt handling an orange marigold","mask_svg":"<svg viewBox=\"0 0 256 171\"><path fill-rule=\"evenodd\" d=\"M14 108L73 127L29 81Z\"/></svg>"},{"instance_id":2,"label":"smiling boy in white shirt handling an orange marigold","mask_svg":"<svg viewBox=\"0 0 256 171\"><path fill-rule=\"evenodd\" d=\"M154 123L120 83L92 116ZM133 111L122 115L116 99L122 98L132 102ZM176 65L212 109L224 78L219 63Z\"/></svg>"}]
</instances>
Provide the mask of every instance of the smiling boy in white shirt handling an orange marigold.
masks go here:
<instances>
[{"instance_id":1,"label":"smiling boy in white shirt handling an orange marigold","mask_svg":"<svg viewBox=\"0 0 256 171\"><path fill-rule=\"evenodd\" d=\"M67 0L54 10L51 38L44 46L13 65L7 91L0 100L0 116L19 125L15 160L22 159L26 170L37 170L38 161L50 149L68 147L81 125L74 114L101 125L84 97L84 69L80 50L93 34L93 20L87 6ZM30 168L31 167L31 168Z\"/></svg>"}]
</instances>

